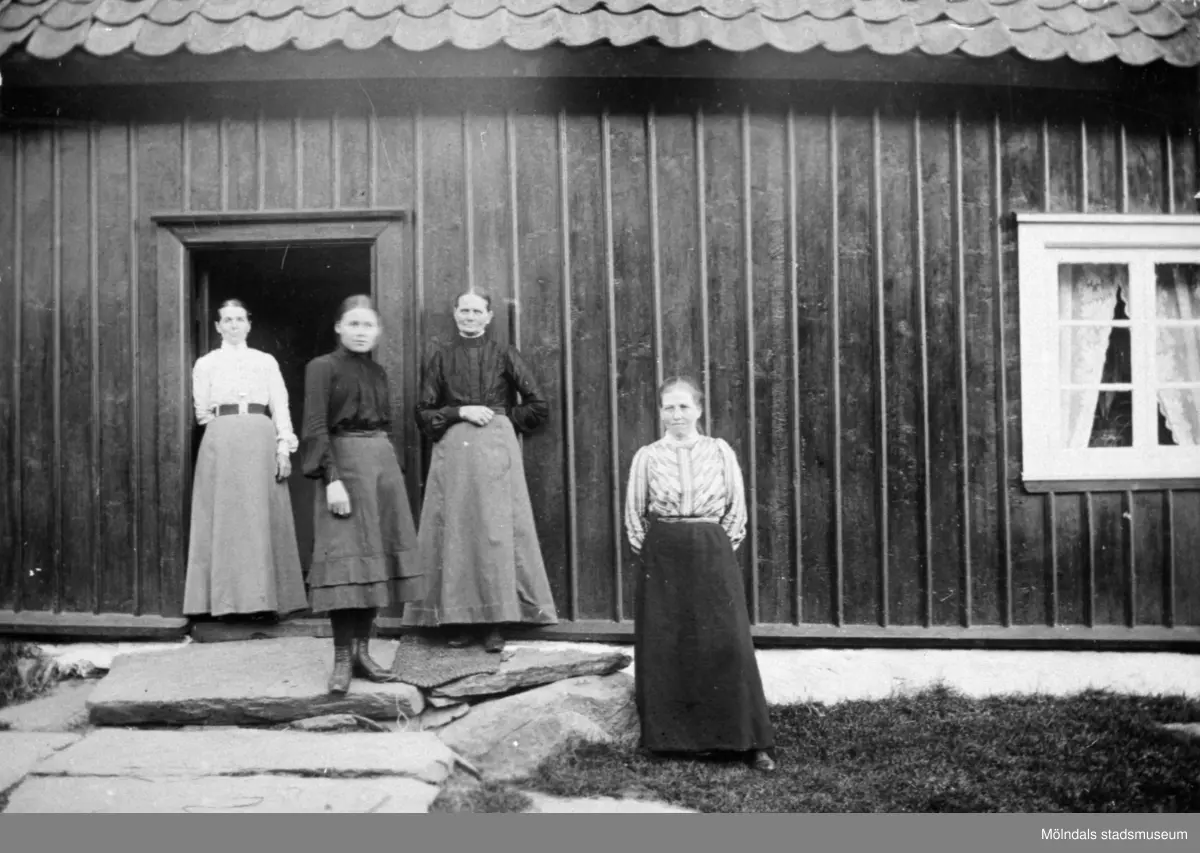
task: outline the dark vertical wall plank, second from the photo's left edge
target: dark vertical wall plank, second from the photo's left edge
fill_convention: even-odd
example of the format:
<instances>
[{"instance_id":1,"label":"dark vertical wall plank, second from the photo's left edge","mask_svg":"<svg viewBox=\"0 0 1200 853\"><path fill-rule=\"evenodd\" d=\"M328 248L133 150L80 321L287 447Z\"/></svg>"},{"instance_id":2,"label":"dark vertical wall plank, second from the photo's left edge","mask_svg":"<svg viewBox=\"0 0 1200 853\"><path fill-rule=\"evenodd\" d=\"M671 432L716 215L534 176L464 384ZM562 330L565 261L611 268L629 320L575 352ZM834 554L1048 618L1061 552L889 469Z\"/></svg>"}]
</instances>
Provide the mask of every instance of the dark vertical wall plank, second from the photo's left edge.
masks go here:
<instances>
[{"instance_id":1,"label":"dark vertical wall plank, second from the photo's left edge","mask_svg":"<svg viewBox=\"0 0 1200 853\"><path fill-rule=\"evenodd\" d=\"M54 607L58 554L54 553L54 204L53 131L22 133L20 251L20 530L23 537L19 605Z\"/></svg>"}]
</instances>

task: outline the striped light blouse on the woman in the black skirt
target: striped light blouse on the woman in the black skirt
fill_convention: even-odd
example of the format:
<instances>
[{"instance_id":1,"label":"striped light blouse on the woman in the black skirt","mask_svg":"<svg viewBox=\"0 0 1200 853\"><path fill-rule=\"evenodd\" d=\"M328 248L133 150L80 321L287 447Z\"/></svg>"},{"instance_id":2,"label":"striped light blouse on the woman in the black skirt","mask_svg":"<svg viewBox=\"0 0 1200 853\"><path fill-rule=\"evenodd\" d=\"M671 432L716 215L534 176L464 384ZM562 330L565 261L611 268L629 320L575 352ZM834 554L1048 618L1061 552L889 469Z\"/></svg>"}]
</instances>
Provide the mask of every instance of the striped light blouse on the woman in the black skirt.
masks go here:
<instances>
[{"instance_id":1,"label":"striped light blouse on the woman in the black skirt","mask_svg":"<svg viewBox=\"0 0 1200 853\"><path fill-rule=\"evenodd\" d=\"M635 553L641 553L650 515L713 518L737 548L745 539L746 503L733 447L721 438L678 441L667 435L638 450L625 494L625 528Z\"/></svg>"}]
</instances>

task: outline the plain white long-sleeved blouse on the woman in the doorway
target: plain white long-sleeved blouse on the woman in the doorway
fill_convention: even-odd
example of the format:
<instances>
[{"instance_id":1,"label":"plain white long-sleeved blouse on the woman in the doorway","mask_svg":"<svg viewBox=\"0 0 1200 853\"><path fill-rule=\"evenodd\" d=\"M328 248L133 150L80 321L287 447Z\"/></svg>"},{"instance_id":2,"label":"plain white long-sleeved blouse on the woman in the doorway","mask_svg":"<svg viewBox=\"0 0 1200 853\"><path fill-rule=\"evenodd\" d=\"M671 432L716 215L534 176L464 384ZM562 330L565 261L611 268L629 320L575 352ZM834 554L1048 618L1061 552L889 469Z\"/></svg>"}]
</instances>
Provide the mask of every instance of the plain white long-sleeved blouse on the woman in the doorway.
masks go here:
<instances>
[{"instance_id":1,"label":"plain white long-sleeved blouse on the woman in the doorway","mask_svg":"<svg viewBox=\"0 0 1200 853\"><path fill-rule=\"evenodd\" d=\"M292 429L288 389L280 365L275 356L260 349L222 342L220 349L197 359L192 368L192 401L200 425L216 418L214 409L217 406L266 406L275 422L277 450L292 453L300 446Z\"/></svg>"}]
</instances>

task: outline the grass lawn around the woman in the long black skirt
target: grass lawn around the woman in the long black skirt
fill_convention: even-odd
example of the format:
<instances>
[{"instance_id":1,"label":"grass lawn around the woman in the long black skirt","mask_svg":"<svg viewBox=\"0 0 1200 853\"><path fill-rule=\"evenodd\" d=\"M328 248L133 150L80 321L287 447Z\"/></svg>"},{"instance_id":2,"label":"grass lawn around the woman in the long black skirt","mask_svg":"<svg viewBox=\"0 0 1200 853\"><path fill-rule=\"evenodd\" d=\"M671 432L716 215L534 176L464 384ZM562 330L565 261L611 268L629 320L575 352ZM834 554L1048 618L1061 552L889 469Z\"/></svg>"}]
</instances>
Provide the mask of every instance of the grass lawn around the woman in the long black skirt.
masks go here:
<instances>
[{"instance_id":1,"label":"grass lawn around the woman in the long black skirt","mask_svg":"<svg viewBox=\"0 0 1200 853\"><path fill-rule=\"evenodd\" d=\"M1200 721L1183 697L1088 692L971 699L946 689L772 709L779 769L664 761L578 744L522 785L631 792L706 812L1196 812L1200 747L1157 723Z\"/></svg>"}]
</instances>

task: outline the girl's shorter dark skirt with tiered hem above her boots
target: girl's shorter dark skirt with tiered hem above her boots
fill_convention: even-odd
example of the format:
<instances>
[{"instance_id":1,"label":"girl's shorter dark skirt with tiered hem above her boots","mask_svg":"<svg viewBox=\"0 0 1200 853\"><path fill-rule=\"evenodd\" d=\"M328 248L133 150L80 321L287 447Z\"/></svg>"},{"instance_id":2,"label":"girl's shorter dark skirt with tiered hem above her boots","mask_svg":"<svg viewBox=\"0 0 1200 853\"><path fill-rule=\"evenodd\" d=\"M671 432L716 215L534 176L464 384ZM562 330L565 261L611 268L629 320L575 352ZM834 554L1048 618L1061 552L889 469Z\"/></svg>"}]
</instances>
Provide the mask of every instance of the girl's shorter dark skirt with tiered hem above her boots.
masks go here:
<instances>
[{"instance_id":1,"label":"girl's shorter dark skirt with tiered hem above her boots","mask_svg":"<svg viewBox=\"0 0 1200 853\"><path fill-rule=\"evenodd\" d=\"M418 597L416 530L391 441L384 433L336 435L332 441L350 515L335 516L324 487L317 489L312 609L386 607Z\"/></svg>"}]
</instances>

